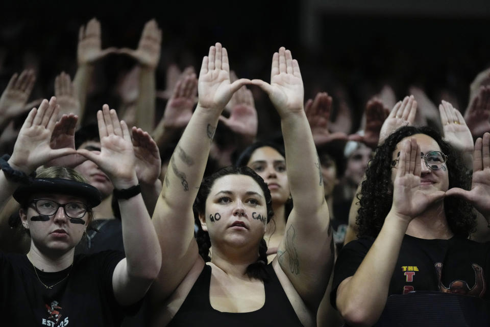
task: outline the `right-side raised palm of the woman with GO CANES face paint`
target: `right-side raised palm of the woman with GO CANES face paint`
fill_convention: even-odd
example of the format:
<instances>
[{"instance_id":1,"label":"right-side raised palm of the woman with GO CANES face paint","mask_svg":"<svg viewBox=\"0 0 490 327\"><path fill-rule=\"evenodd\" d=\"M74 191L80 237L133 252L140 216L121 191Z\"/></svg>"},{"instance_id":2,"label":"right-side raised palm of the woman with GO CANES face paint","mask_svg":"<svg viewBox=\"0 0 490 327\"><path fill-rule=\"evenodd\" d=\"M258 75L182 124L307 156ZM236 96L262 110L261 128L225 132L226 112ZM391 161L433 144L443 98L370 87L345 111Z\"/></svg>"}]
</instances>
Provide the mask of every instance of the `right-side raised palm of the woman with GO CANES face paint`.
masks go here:
<instances>
[{"instance_id":1,"label":"right-side raised palm of the woman with GO CANES face paint","mask_svg":"<svg viewBox=\"0 0 490 327\"><path fill-rule=\"evenodd\" d=\"M291 52L284 46L272 57L271 84L262 80L252 80L271 99L281 118L290 112L303 110L304 88L298 60L292 59Z\"/></svg>"}]
</instances>

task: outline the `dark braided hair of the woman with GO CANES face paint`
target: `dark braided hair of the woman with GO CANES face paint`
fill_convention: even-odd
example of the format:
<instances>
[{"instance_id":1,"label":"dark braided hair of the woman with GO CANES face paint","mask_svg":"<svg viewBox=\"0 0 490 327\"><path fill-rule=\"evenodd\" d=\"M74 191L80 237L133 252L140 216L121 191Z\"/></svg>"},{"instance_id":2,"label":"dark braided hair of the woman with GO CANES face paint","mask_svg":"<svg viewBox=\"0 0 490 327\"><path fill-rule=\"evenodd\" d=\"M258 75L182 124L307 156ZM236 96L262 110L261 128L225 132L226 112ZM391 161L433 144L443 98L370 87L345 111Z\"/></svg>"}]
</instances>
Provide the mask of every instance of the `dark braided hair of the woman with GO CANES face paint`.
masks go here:
<instances>
[{"instance_id":1,"label":"dark braided hair of the woman with GO CANES face paint","mask_svg":"<svg viewBox=\"0 0 490 327\"><path fill-rule=\"evenodd\" d=\"M197 226L197 231L195 232L195 239L198 242L199 254L202 256L204 261L209 262L211 258L209 257L209 248L211 247L211 240L207 231L203 230L201 227L201 221L199 220L199 215L204 215L206 211L206 199L208 198L209 192L213 187L214 181L220 177L226 175L246 175L252 177L257 184L262 189L265 197L265 205L267 208L267 223L274 216L274 210L272 208L272 197L271 192L267 188L267 184L264 182L262 177L257 175L252 169L247 166L244 167L224 167L216 171L214 174L206 177L201 182L201 186L198 191L198 195L195 197L192 210L194 212L194 223ZM267 264L267 243L262 238L259 245L259 257L255 263L250 264L247 267L247 275L252 278L258 278L262 281L267 281L269 276L265 270L265 265Z\"/></svg>"}]
</instances>

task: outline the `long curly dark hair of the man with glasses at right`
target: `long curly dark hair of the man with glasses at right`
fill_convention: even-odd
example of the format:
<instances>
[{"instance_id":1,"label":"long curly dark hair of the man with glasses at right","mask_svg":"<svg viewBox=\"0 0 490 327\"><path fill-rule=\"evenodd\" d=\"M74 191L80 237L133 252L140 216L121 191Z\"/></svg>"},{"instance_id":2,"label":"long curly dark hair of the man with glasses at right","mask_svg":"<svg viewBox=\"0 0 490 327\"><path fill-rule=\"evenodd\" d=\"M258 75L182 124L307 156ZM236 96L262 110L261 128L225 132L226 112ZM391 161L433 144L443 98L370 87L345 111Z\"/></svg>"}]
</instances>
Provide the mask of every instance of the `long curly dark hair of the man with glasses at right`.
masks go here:
<instances>
[{"instance_id":1,"label":"long curly dark hair of the man with glasses at right","mask_svg":"<svg viewBox=\"0 0 490 327\"><path fill-rule=\"evenodd\" d=\"M460 155L443 140L437 131L430 127L400 127L377 148L376 155L367 168L366 179L362 182L361 192L357 194L360 203L356 218L356 224L359 226L358 237L376 238L378 236L393 202L393 184L391 183L393 151L403 138L414 134L426 134L432 137L439 145L440 150L448 156L446 167L449 171L449 188L469 190L471 186L470 172L462 164ZM472 208L468 201L458 197L444 199L448 224L455 235L468 238L470 232L475 229L476 216L473 214Z\"/></svg>"}]
</instances>

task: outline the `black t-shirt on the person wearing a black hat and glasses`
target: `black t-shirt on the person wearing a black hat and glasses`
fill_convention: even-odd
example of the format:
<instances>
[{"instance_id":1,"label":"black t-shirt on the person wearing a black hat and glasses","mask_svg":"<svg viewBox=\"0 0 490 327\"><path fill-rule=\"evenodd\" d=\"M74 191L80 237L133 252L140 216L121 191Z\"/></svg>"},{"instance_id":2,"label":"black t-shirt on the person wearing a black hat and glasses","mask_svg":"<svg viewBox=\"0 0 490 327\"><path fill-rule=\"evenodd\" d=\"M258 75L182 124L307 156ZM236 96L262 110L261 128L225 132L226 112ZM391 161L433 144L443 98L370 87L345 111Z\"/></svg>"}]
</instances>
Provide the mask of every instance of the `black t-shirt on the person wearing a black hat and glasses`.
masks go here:
<instances>
[{"instance_id":1,"label":"black t-shirt on the person wearing a black hat and glasses","mask_svg":"<svg viewBox=\"0 0 490 327\"><path fill-rule=\"evenodd\" d=\"M23 254L0 253L0 312L6 326L117 326L124 315L112 289L112 274L124 254L105 251L75 256L59 272L36 270ZM9 323L6 323L6 322Z\"/></svg>"}]
</instances>

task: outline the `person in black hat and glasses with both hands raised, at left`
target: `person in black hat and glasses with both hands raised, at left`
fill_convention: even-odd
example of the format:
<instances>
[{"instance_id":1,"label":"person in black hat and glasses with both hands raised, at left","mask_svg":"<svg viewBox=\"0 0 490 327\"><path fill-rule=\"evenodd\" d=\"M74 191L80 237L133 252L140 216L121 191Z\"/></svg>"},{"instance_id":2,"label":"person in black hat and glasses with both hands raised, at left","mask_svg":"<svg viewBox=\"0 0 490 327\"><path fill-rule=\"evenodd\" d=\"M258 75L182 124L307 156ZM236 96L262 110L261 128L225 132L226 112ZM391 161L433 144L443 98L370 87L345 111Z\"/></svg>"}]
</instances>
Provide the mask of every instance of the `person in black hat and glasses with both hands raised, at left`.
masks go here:
<instances>
[{"instance_id":1,"label":"person in black hat and glasses with both hands raised, at left","mask_svg":"<svg viewBox=\"0 0 490 327\"><path fill-rule=\"evenodd\" d=\"M161 252L140 195L131 136L114 110L97 112L101 151L78 153L95 161L116 188L126 258L117 251L74 255L100 194L68 168L35 170L75 149L51 149L56 98L44 100L24 122L12 156L0 160L0 208L13 194L30 233L27 255L0 253L0 312L13 325L113 326L157 276ZM15 191L15 192L14 192Z\"/></svg>"}]
</instances>

